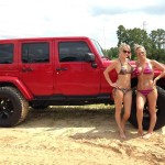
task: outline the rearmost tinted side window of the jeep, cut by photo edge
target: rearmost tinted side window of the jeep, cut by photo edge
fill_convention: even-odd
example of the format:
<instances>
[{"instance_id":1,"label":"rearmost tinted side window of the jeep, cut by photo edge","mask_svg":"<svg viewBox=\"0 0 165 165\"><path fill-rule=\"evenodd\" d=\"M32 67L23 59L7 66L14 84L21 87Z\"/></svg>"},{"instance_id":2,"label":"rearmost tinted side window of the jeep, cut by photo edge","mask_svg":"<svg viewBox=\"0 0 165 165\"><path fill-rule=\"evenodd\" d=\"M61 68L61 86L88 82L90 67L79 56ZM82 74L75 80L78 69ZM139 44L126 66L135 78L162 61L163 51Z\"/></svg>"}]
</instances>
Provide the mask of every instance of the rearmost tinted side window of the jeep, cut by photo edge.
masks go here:
<instances>
[{"instance_id":1,"label":"rearmost tinted side window of the jeep, cut by photo edge","mask_svg":"<svg viewBox=\"0 0 165 165\"><path fill-rule=\"evenodd\" d=\"M13 44L0 44L0 64L13 63Z\"/></svg>"}]
</instances>

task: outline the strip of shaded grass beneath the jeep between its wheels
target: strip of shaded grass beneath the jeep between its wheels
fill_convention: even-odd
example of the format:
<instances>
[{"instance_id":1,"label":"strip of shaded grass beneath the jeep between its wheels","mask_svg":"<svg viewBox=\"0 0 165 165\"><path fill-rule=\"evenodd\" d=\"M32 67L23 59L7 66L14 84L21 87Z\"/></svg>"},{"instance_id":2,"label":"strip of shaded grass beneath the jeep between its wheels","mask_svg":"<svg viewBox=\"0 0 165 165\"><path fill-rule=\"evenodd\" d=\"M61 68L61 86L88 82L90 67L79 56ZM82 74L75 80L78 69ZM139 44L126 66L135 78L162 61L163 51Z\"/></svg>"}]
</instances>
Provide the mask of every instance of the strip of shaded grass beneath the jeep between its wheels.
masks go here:
<instances>
[{"instance_id":1,"label":"strip of shaded grass beneath the jeep between its wheels","mask_svg":"<svg viewBox=\"0 0 165 165\"><path fill-rule=\"evenodd\" d=\"M86 106L50 106L46 109L31 109L31 114L36 114L40 117L48 117L55 119L64 119L64 118L91 118L100 114L113 114L114 106L111 105L86 105ZM48 117L50 118L50 117Z\"/></svg>"}]
</instances>

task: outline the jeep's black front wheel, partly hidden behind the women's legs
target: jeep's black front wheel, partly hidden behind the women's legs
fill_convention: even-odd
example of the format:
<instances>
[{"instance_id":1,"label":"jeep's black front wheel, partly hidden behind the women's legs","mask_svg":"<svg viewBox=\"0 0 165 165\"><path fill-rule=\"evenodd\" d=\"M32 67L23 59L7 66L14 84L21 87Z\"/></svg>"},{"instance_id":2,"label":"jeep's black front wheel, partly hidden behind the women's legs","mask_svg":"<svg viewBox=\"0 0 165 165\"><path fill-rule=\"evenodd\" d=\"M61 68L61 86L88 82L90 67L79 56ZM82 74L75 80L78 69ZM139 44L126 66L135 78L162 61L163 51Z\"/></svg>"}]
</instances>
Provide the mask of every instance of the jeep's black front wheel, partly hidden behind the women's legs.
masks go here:
<instances>
[{"instance_id":1,"label":"jeep's black front wheel, partly hidden behind the women's legs","mask_svg":"<svg viewBox=\"0 0 165 165\"><path fill-rule=\"evenodd\" d=\"M156 103L156 116L157 116L157 121L155 124L154 130L161 129L162 127L165 125L165 90L163 90L160 87L157 88L158 92L158 98L157 98L157 103ZM129 121L138 128L138 121L136 121L136 91L135 89L133 90L133 97L132 97L132 110L131 110L131 116ZM147 102L144 106L143 110L143 129L147 130L150 127L150 112L148 112L148 106Z\"/></svg>"}]
</instances>

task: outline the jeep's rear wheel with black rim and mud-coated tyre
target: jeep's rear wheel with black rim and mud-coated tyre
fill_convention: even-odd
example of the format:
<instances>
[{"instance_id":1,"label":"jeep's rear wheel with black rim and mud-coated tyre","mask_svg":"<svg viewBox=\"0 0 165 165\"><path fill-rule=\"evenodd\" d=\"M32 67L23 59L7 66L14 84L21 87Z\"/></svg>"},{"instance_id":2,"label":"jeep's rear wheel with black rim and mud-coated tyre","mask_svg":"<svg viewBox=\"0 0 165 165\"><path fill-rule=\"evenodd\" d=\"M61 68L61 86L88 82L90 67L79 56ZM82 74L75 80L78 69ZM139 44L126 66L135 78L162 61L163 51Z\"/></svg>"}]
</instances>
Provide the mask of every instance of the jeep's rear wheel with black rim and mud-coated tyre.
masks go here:
<instances>
[{"instance_id":1,"label":"jeep's rear wheel with black rim and mud-coated tyre","mask_svg":"<svg viewBox=\"0 0 165 165\"><path fill-rule=\"evenodd\" d=\"M29 113L29 103L13 87L0 88L0 127L14 127Z\"/></svg>"}]
</instances>

